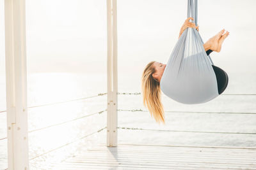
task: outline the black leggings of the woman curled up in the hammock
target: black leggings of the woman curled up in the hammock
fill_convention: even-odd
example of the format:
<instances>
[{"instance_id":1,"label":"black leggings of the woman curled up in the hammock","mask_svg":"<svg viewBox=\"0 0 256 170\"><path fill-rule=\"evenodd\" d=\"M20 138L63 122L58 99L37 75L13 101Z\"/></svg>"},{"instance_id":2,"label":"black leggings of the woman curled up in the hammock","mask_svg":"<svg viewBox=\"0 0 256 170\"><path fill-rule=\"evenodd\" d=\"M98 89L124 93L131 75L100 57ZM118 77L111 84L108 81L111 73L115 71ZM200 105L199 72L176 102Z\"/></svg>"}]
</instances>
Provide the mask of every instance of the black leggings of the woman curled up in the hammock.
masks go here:
<instances>
[{"instance_id":1,"label":"black leggings of the woman curled up in the hammock","mask_svg":"<svg viewBox=\"0 0 256 170\"><path fill-rule=\"evenodd\" d=\"M206 54L209 55L212 50L207 50ZM218 93L221 94L227 88L228 85L228 74L221 69L220 67L216 67L212 65L214 73L216 75L217 84L218 84Z\"/></svg>"}]
</instances>

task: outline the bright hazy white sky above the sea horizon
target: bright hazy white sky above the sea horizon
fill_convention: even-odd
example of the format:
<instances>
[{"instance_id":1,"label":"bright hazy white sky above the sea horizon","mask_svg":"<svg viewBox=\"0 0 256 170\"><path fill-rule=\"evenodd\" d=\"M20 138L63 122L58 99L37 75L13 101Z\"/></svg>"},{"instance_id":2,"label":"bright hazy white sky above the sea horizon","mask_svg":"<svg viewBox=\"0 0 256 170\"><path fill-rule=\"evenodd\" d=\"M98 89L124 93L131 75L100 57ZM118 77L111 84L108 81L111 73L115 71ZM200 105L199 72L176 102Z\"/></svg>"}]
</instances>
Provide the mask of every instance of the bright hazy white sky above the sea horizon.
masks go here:
<instances>
[{"instance_id":1,"label":"bright hazy white sky above the sea horizon","mask_svg":"<svg viewBox=\"0 0 256 170\"><path fill-rule=\"evenodd\" d=\"M118 71L166 63L186 19L187 0L118 0ZM256 1L198 0L204 41L225 28L230 36L211 57L230 71L255 71ZM4 73L4 1L0 4L0 73ZM106 73L106 0L26 0L29 72Z\"/></svg>"}]
</instances>

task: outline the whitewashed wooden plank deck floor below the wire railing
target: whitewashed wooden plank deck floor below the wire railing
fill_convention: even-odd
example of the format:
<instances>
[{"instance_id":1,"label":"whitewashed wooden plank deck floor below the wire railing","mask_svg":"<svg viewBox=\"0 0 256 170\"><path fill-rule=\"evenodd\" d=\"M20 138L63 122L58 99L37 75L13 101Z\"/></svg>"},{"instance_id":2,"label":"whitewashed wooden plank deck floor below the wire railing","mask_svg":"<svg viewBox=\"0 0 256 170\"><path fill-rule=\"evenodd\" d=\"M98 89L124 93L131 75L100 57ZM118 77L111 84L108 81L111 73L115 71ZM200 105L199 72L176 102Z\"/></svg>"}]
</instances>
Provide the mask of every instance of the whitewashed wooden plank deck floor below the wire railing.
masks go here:
<instances>
[{"instance_id":1,"label":"whitewashed wooden plank deck floor below the wire railing","mask_svg":"<svg viewBox=\"0 0 256 170\"><path fill-rule=\"evenodd\" d=\"M56 169L256 169L256 149L102 144L82 148Z\"/></svg>"}]
</instances>

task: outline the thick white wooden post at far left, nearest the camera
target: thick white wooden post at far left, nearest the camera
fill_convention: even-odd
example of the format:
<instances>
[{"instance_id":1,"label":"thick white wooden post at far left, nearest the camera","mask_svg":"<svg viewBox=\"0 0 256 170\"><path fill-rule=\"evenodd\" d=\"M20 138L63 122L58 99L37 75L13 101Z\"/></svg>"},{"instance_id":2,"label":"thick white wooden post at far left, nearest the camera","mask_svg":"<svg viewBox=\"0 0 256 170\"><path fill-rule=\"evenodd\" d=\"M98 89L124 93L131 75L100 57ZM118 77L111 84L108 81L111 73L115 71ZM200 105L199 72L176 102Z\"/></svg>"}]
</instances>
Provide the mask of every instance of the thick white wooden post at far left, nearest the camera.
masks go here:
<instances>
[{"instance_id":1,"label":"thick white wooden post at far left, nearest the camera","mask_svg":"<svg viewBox=\"0 0 256 170\"><path fill-rule=\"evenodd\" d=\"M25 0L4 1L8 169L29 169Z\"/></svg>"}]
</instances>

